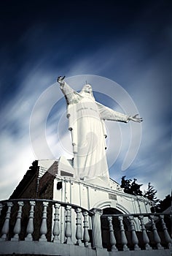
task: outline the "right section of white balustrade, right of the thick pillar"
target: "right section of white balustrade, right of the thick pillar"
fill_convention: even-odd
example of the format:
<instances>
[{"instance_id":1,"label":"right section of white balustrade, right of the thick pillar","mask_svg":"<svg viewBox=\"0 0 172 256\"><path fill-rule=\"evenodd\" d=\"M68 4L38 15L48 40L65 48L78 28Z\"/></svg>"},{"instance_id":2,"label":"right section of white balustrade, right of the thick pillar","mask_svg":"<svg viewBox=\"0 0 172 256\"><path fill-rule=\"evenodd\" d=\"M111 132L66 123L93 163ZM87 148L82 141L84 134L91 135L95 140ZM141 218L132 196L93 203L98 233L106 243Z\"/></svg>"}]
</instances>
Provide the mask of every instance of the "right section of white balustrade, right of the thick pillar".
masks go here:
<instances>
[{"instance_id":1,"label":"right section of white balustrade, right of the thick pillar","mask_svg":"<svg viewBox=\"0 0 172 256\"><path fill-rule=\"evenodd\" d=\"M109 251L171 249L170 214L104 214L101 231Z\"/></svg>"}]
</instances>

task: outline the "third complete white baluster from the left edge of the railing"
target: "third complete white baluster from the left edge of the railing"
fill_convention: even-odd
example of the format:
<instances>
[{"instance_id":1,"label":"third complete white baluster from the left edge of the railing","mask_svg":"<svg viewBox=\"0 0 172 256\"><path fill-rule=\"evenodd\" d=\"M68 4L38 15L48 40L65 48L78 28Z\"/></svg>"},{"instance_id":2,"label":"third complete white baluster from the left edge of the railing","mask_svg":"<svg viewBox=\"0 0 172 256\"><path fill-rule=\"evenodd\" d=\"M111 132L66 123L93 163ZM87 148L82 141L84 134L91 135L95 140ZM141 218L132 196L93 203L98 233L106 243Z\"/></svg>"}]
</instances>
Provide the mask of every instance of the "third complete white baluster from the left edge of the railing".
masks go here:
<instances>
[{"instance_id":1,"label":"third complete white baluster from the left edge of the railing","mask_svg":"<svg viewBox=\"0 0 172 256\"><path fill-rule=\"evenodd\" d=\"M34 206L35 201L30 201L31 209L29 211L29 217L28 217L28 225L26 228L27 236L25 238L25 241L33 241L32 234L34 233Z\"/></svg>"}]
</instances>

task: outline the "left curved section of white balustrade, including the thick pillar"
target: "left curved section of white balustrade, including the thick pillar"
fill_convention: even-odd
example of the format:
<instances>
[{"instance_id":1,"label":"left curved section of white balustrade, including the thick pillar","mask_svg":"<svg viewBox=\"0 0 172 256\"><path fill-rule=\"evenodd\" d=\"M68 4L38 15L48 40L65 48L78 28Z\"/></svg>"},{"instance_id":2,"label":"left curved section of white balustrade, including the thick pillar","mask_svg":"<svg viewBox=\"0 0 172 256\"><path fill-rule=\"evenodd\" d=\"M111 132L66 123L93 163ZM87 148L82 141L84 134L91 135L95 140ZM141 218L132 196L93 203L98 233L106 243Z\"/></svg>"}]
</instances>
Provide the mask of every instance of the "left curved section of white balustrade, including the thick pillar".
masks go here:
<instances>
[{"instance_id":1,"label":"left curved section of white balustrade, including the thick pillar","mask_svg":"<svg viewBox=\"0 0 172 256\"><path fill-rule=\"evenodd\" d=\"M54 200L20 199L1 201L0 215L0 242L52 241L101 247L100 213L97 209L87 211ZM92 230L92 225L96 229Z\"/></svg>"}]
</instances>

